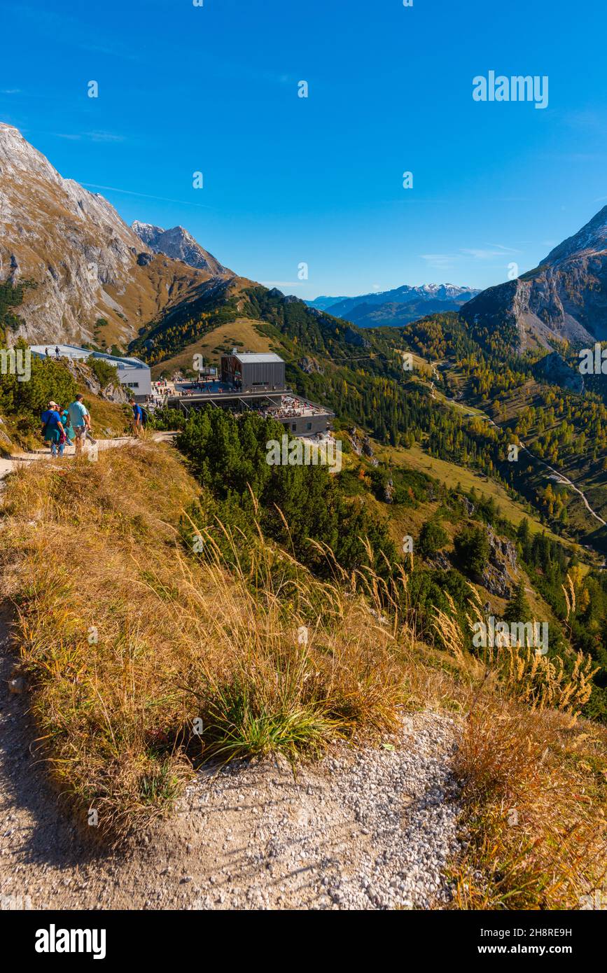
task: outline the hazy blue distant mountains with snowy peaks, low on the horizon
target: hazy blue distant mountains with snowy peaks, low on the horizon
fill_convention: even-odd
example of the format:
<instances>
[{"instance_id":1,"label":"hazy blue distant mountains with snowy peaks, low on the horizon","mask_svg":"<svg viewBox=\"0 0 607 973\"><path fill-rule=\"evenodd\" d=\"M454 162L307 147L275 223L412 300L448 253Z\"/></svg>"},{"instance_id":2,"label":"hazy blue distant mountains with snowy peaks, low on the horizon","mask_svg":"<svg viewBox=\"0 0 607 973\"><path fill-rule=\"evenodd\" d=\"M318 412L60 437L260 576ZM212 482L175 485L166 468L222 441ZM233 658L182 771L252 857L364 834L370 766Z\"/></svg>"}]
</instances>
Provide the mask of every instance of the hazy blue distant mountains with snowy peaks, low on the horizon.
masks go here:
<instances>
[{"instance_id":1,"label":"hazy blue distant mountains with snowy peaks, low on the horizon","mask_svg":"<svg viewBox=\"0 0 607 973\"><path fill-rule=\"evenodd\" d=\"M426 314L458 310L479 293L471 287L455 284L423 284L420 287L403 284L391 291L374 291L354 298L323 296L306 304L351 321L359 328L402 327Z\"/></svg>"}]
</instances>

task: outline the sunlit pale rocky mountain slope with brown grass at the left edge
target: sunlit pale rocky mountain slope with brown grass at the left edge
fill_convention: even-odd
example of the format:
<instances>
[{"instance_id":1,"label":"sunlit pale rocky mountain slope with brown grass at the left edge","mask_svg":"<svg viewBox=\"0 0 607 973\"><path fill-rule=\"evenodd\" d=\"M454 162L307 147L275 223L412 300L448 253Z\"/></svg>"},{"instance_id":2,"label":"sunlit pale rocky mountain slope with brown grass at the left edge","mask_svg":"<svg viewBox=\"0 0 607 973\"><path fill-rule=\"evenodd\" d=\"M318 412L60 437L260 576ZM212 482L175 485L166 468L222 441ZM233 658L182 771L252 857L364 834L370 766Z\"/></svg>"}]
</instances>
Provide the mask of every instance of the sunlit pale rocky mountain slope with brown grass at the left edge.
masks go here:
<instances>
[{"instance_id":1,"label":"sunlit pale rocky mountain slope with brown grass at the left edge","mask_svg":"<svg viewBox=\"0 0 607 973\"><path fill-rule=\"evenodd\" d=\"M63 179L5 124L0 176L0 281L33 285L16 336L125 344L218 275L231 275L221 265L198 270L150 252L106 199Z\"/></svg>"}]
</instances>

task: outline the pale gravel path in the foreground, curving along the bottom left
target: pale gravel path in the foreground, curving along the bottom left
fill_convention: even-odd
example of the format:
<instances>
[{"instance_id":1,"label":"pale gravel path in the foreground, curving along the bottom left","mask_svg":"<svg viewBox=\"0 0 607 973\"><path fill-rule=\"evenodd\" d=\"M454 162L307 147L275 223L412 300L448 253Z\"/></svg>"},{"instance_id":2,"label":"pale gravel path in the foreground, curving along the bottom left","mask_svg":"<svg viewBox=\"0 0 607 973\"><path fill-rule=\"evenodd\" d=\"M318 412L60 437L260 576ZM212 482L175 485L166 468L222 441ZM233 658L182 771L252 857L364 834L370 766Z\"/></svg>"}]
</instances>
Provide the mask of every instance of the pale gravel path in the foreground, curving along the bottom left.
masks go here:
<instances>
[{"instance_id":1,"label":"pale gravel path in the foreground, curving along the bottom left","mask_svg":"<svg viewBox=\"0 0 607 973\"><path fill-rule=\"evenodd\" d=\"M2 638L4 637L4 646ZM2 652L2 649L4 650ZM457 851L454 724L408 716L394 749L333 746L197 775L174 815L107 852L74 828L8 692L0 626L0 908L384 909L446 900Z\"/></svg>"}]
</instances>

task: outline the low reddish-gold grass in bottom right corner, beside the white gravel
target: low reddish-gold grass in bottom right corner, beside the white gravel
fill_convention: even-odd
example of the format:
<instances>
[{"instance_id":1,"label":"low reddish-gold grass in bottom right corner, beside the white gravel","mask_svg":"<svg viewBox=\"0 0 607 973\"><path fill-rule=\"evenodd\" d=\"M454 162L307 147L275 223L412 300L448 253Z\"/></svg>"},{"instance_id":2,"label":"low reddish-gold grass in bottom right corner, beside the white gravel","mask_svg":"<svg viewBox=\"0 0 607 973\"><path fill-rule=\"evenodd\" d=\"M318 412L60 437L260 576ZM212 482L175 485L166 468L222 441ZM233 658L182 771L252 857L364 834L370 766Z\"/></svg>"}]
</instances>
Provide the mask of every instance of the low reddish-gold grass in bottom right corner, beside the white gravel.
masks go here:
<instances>
[{"instance_id":1,"label":"low reddish-gold grass in bottom right corner, beside the white gravel","mask_svg":"<svg viewBox=\"0 0 607 973\"><path fill-rule=\"evenodd\" d=\"M482 693L461 735L459 909L580 909L605 894L607 733Z\"/></svg>"}]
</instances>

